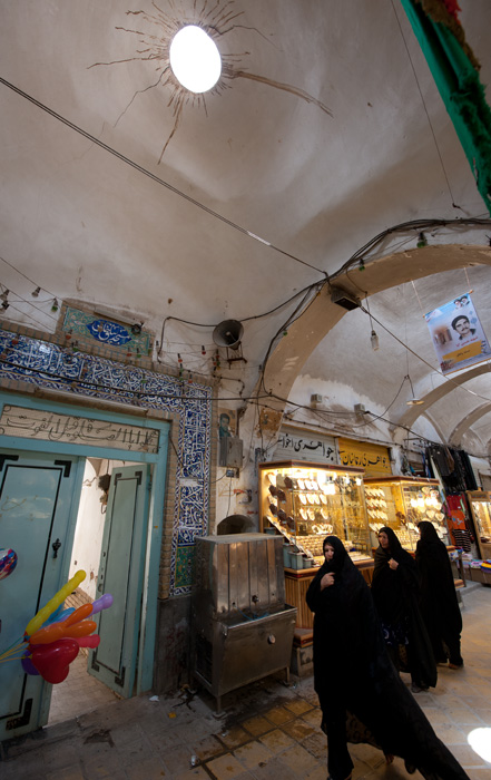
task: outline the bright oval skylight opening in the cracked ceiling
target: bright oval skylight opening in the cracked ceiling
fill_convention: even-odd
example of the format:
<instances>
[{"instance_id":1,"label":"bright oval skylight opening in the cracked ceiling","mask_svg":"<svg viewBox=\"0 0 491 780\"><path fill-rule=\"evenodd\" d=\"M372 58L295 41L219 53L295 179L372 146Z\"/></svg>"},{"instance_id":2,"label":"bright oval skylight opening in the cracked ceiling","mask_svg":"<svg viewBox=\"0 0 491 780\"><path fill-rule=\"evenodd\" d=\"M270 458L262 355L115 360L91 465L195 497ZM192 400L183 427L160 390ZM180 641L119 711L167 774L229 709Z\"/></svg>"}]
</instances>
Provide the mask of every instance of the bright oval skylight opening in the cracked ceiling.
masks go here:
<instances>
[{"instance_id":1,"label":"bright oval skylight opening in the cracked ceiling","mask_svg":"<svg viewBox=\"0 0 491 780\"><path fill-rule=\"evenodd\" d=\"M169 59L174 76L190 92L209 91L222 75L222 58L215 41L196 25L176 32Z\"/></svg>"}]
</instances>

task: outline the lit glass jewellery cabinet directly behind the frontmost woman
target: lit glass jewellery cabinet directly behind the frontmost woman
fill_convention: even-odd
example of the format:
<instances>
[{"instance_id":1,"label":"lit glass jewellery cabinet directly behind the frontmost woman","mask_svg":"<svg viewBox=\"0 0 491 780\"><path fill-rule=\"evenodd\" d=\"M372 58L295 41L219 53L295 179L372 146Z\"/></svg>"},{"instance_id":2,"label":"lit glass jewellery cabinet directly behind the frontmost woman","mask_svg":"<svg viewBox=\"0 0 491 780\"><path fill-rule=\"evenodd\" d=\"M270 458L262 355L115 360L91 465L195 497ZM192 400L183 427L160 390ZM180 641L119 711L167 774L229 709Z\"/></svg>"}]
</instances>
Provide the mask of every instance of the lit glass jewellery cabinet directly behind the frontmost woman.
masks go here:
<instances>
[{"instance_id":1,"label":"lit glass jewellery cabinet directly behind the frontmost woman","mask_svg":"<svg viewBox=\"0 0 491 780\"><path fill-rule=\"evenodd\" d=\"M324 563L328 534L343 540L355 563L372 559L363 469L292 460L259 464L259 518L261 529L283 534L307 567Z\"/></svg>"}]
</instances>

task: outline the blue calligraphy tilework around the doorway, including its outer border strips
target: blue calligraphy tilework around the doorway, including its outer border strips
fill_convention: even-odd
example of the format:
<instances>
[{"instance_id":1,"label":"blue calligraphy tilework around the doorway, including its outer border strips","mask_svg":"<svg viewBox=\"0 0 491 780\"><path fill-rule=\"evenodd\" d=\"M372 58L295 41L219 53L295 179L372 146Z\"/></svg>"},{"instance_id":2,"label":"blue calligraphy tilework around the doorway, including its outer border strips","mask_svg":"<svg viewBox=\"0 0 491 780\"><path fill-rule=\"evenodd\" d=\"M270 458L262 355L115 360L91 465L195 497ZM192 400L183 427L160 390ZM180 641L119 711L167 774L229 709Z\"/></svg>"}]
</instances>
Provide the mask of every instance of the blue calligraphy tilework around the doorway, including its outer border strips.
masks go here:
<instances>
[{"instance_id":1,"label":"blue calligraphy tilework around the doorway, including its outer border strips","mask_svg":"<svg viewBox=\"0 0 491 780\"><path fill-rule=\"evenodd\" d=\"M130 354L126 342L101 344L87 329L76 338L67 320L70 311L63 306L55 335L0 321L0 388L68 392L79 402L87 398L88 407L92 399L117 401L129 413L131 407L146 408L147 419L169 420L159 596L189 593L194 537L208 533L215 509L209 496L216 462L212 387L165 373L148 354ZM71 333L65 323L71 324Z\"/></svg>"}]
</instances>

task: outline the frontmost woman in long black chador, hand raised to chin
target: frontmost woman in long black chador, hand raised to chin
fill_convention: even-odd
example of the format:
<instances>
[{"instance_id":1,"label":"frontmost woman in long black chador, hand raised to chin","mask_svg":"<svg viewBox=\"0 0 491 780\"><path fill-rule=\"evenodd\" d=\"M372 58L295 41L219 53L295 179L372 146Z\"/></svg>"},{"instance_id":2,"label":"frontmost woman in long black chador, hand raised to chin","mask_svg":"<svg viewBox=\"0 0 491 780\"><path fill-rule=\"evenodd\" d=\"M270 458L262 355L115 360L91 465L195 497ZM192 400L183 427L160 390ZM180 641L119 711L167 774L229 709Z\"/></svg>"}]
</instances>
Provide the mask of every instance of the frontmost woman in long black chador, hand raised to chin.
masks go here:
<instances>
[{"instance_id":1,"label":"frontmost woman in long black chador, hand raised to chin","mask_svg":"<svg viewBox=\"0 0 491 780\"><path fill-rule=\"evenodd\" d=\"M380 747L426 780L469 780L392 664L373 599L336 536L306 594L314 617L314 685L331 780L351 778L347 741Z\"/></svg>"}]
</instances>

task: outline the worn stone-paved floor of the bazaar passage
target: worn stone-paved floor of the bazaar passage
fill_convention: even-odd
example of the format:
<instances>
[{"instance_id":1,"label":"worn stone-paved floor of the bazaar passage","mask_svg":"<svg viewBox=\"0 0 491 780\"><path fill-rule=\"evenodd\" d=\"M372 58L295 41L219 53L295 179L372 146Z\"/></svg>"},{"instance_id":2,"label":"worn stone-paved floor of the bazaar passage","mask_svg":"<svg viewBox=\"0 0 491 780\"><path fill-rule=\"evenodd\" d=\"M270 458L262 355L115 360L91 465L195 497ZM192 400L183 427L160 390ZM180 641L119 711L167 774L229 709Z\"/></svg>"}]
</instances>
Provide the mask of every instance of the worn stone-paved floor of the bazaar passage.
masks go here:
<instances>
[{"instance_id":1,"label":"worn stone-paved floor of the bazaar passage","mask_svg":"<svg viewBox=\"0 0 491 780\"><path fill-rule=\"evenodd\" d=\"M491 588L469 588L463 605L465 666L439 667L436 689L415 696L471 780L490 780ZM404 680L409 683L407 675ZM3 742L1 780L325 780L326 743L312 677L289 686L267 677L222 703L218 718L203 691L183 689L157 701L110 695L91 712L79 709L72 720ZM488 762L468 742L479 731L487 738ZM400 759L385 766L374 748L350 750L354 780L421 777L409 776Z\"/></svg>"}]
</instances>

